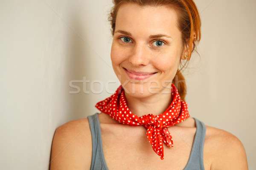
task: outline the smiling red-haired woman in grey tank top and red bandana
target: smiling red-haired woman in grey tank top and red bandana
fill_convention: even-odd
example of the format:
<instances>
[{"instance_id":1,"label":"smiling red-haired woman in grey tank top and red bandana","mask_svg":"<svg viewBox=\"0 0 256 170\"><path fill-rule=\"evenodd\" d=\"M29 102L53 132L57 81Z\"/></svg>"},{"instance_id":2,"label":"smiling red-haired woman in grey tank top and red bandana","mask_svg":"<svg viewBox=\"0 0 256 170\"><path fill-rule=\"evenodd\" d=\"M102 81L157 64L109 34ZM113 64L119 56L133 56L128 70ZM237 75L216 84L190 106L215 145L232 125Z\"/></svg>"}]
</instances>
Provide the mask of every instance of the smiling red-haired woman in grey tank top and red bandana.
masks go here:
<instances>
[{"instance_id":1,"label":"smiling red-haired woman in grey tank top and red bandana","mask_svg":"<svg viewBox=\"0 0 256 170\"><path fill-rule=\"evenodd\" d=\"M113 70L102 111L58 127L51 170L247 170L232 134L189 116L181 60L200 41L192 0L114 0Z\"/></svg>"}]
</instances>

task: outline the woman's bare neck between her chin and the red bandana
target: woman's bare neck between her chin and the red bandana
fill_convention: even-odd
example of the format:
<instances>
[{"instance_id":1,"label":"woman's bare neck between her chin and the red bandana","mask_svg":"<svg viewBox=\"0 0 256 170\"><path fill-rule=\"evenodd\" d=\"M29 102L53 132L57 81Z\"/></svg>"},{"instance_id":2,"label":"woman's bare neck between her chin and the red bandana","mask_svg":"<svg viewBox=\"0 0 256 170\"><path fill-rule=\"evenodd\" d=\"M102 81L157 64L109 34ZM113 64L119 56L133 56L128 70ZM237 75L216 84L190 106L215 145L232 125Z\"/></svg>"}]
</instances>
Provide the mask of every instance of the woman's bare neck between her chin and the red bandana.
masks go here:
<instances>
[{"instance_id":1,"label":"woman's bare neck between her chin and the red bandana","mask_svg":"<svg viewBox=\"0 0 256 170\"><path fill-rule=\"evenodd\" d=\"M130 111L138 117L147 114L162 114L172 102L171 94L153 94L138 98L125 93L125 98Z\"/></svg>"}]
</instances>

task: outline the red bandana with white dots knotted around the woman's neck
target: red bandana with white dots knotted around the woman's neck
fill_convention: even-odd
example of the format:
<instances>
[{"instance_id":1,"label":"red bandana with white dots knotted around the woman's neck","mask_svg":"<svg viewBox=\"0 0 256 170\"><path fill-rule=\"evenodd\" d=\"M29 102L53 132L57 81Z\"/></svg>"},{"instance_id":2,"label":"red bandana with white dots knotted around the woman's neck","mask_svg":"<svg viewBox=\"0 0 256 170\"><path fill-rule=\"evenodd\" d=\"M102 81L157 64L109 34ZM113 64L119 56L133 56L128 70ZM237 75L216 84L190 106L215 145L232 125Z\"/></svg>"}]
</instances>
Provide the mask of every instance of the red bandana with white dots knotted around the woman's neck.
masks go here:
<instances>
[{"instance_id":1,"label":"red bandana with white dots knotted around the woman's neck","mask_svg":"<svg viewBox=\"0 0 256 170\"><path fill-rule=\"evenodd\" d=\"M125 91L121 85L115 94L98 102L95 107L122 124L132 126L143 125L147 129L148 141L161 159L163 159L163 142L169 147L173 147L172 136L167 127L183 122L183 120L189 117L187 104L180 99L177 88L173 84L172 103L160 115L148 114L138 117L131 113L126 104Z\"/></svg>"}]
</instances>

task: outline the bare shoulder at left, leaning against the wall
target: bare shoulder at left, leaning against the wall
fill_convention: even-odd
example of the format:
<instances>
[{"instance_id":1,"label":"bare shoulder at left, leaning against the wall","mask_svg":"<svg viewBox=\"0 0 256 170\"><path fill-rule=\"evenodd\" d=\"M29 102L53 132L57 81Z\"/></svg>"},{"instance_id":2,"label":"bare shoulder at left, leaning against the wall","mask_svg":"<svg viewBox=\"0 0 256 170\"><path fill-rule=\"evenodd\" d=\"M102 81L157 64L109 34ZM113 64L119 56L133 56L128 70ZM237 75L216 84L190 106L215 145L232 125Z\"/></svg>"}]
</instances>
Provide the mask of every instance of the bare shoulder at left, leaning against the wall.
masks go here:
<instances>
[{"instance_id":1,"label":"bare shoulder at left, leaning against the wall","mask_svg":"<svg viewBox=\"0 0 256 170\"><path fill-rule=\"evenodd\" d=\"M52 141L51 170L90 169L92 139L88 119L58 127Z\"/></svg>"}]
</instances>

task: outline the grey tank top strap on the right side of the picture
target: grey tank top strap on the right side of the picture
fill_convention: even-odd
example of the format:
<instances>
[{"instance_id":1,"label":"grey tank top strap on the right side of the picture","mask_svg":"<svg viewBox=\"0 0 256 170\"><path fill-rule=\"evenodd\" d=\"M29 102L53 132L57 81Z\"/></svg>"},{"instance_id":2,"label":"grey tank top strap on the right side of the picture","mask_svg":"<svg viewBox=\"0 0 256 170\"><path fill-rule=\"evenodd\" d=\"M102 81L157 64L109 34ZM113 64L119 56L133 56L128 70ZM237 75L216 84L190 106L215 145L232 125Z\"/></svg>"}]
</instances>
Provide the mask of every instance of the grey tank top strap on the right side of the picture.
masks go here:
<instances>
[{"instance_id":1,"label":"grey tank top strap on the right side of the picture","mask_svg":"<svg viewBox=\"0 0 256 170\"><path fill-rule=\"evenodd\" d=\"M203 153L206 126L198 119L195 119L195 124L195 139L189 156L189 161L184 170L204 170Z\"/></svg>"}]
</instances>

